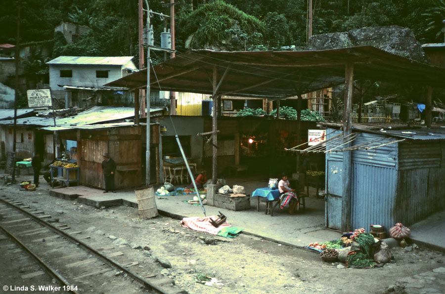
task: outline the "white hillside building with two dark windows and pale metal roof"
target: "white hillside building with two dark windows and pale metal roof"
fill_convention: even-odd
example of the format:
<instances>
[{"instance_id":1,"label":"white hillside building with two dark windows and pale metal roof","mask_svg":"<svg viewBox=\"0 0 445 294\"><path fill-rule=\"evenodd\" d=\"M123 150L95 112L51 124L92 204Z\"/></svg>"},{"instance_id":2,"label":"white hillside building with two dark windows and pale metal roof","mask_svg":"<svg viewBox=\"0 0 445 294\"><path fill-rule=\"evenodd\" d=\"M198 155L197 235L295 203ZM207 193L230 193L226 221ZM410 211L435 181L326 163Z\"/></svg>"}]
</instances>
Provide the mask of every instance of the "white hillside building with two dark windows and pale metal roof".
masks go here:
<instances>
[{"instance_id":1,"label":"white hillside building with two dark windows and pale metal roof","mask_svg":"<svg viewBox=\"0 0 445 294\"><path fill-rule=\"evenodd\" d=\"M54 98L65 99L64 86L101 88L137 71L133 56L59 56L49 65L49 87Z\"/></svg>"}]
</instances>

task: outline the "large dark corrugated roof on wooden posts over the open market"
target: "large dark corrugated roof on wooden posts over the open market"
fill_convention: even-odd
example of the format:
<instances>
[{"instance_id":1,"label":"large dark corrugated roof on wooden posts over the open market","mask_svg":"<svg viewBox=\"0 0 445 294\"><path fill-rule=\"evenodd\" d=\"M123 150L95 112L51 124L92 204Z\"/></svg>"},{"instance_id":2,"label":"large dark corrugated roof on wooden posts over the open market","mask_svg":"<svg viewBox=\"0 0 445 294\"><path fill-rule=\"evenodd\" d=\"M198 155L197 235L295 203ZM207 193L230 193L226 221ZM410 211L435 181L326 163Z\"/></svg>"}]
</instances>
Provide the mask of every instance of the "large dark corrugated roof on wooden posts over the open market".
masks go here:
<instances>
[{"instance_id":1,"label":"large dark corrugated roof on wooden posts over the open market","mask_svg":"<svg viewBox=\"0 0 445 294\"><path fill-rule=\"evenodd\" d=\"M220 95L287 98L343 83L346 63L356 64L357 80L444 86L443 68L372 46L307 51L187 51L151 68L149 83L152 90L213 94L208 73L216 69L218 77L227 73L219 85ZM145 69L106 85L134 89L146 84Z\"/></svg>"}]
</instances>

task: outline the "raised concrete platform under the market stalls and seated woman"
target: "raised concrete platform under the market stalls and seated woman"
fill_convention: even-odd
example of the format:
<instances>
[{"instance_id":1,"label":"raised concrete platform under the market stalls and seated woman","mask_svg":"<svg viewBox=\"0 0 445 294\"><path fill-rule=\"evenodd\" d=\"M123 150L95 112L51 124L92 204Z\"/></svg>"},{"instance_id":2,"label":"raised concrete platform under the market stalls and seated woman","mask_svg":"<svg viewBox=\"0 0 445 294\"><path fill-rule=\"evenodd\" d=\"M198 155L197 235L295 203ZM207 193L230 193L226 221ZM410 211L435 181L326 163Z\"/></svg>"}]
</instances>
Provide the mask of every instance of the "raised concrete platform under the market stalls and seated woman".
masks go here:
<instances>
[{"instance_id":1,"label":"raised concrete platform under the market stalls and seated woman","mask_svg":"<svg viewBox=\"0 0 445 294\"><path fill-rule=\"evenodd\" d=\"M242 185L246 194L252 194L257 187L266 186L263 181L237 180L228 185ZM157 189L158 187L155 187ZM266 240L283 245L305 247L312 242L327 242L341 237L341 232L325 228L325 202L316 198L315 188L310 189L312 196L306 198L306 210L300 210L297 215L290 215L287 209L276 208L273 216L265 214L265 205L260 202L257 211L256 197L250 198L250 210L225 210L205 205L207 216L218 215L221 211L227 221L236 227L244 229L244 233L262 237ZM137 208L134 190L118 190L117 193L102 193L102 190L84 186L56 188L50 190L50 195L64 199L77 199L79 203L100 208L126 205ZM204 216L200 206L182 202L191 200L194 195L156 196L156 205L160 214L182 219L190 216ZM445 252L445 213L440 212L431 218L423 220L410 227L412 242L435 250ZM179 225L179 222L178 222Z\"/></svg>"}]
</instances>

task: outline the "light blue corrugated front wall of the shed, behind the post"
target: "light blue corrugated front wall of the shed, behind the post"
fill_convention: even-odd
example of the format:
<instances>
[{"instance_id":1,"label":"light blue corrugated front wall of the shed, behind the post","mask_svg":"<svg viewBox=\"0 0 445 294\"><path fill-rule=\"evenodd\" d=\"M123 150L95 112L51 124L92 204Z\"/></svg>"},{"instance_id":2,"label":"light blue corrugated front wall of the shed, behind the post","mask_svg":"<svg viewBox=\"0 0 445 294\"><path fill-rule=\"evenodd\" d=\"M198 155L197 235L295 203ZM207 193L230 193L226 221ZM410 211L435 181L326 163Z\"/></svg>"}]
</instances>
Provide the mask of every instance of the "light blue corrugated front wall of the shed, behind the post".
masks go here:
<instances>
[{"instance_id":1,"label":"light blue corrugated front wall of the shed, behind the post","mask_svg":"<svg viewBox=\"0 0 445 294\"><path fill-rule=\"evenodd\" d=\"M333 129L327 129L327 133ZM341 133L336 130L328 136ZM353 145L383 138L369 133L359 133ZM333 146L327 144L329 150ZM353 229L368 229L370 224L394 225L393 208L397 190L398 144L390 144L371 150L352 152L351 226ZM343 195L343 153L326 154L326 189L328 195L327 226L339 229ZM331 197L330 197L331 196ZM335 198L336 197L336 198Z\"/></svg>"}]
</instances>

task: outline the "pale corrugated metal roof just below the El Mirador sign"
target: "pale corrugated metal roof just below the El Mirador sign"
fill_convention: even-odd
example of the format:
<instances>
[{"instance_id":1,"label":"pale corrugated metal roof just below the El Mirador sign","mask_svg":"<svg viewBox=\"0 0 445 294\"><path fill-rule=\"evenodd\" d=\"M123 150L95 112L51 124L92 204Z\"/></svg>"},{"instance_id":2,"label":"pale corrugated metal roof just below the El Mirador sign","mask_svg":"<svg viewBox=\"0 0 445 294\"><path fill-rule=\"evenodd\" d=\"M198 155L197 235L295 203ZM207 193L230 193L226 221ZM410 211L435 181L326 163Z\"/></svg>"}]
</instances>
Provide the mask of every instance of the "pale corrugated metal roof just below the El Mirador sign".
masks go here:
<instances>
[{"instance_id":1,"label":"pale corrugated metal roof just below the El Mirador sign","mask_svg":"<svg viewBox=\"0 0 445 294\"><path fill-rule=\"evenodd\" d=\"M76 116L56 118L56 126L82 126L110 122L134 117L133 107L94 106ZM11 125L12 120L0 121L0 125ZM17 119L17 125L54 126L52 117L29 117Z\"/></svg>"}]
</instances>

